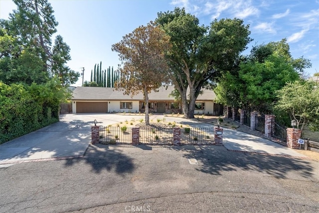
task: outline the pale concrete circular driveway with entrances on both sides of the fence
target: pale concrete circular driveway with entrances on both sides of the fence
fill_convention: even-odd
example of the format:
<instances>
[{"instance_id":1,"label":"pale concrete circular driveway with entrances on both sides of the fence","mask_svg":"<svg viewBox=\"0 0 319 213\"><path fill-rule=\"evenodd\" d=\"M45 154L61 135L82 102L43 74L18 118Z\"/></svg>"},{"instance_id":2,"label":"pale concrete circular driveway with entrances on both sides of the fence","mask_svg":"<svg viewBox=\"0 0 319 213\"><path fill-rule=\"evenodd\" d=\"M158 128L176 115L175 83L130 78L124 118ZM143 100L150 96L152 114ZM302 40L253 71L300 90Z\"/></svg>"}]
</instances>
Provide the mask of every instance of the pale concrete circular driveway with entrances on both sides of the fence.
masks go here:
<instances>
[{"instance_id":1,"label":"pale concrete circular driveway with entrances on both sides of the fence","mask_svg":"<svg viewBox=\"0 0 319 213\"><path fill-rule=\"evenodd\" d=\"M98 121L98 125L109 125L132 118L144 117L116 114L61 115L57 123L1 144L0 167L35 160L81 157L91 142L90 126L93 125L94 119ZM154 120L157 118L162 119L163 115L150 117ZM165 119L168 122L175 121L192 127L213 127L211 124L181 117L165 117ZM305 155L270 140L233 129L225 128L223 138L224 147L229 151L307 158Z\"/></svg>"}]
</instances>

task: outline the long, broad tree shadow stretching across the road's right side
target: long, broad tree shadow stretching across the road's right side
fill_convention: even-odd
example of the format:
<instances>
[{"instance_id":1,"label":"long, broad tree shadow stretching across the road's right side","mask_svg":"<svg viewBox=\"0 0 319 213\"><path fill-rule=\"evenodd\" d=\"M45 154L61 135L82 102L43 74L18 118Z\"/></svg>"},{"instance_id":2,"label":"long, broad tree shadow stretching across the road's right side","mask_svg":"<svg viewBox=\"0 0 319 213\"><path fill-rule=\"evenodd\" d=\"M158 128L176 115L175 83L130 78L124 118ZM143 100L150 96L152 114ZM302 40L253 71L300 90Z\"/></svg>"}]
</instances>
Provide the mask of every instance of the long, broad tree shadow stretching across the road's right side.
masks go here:
<instances>
[{"instance_id":1,"label":"long, broad tree shadow stretching across the road's right side","mask_svg":"<svg viewBox=\"0 0 319 213\"><path fill-rule=\"evenodd\" d=\"M195 158L198 161L196 170L213 175L224 171L256 170L266 172L276 178L287 178L292 171L303 178L315 177L316 171L306 159L287 156L273 156L227 151L223 146L182 145L167 146L168 149L182 151L183 157ZM316 177L318 179L318 176Z\"/></svg>"}]
</instances>

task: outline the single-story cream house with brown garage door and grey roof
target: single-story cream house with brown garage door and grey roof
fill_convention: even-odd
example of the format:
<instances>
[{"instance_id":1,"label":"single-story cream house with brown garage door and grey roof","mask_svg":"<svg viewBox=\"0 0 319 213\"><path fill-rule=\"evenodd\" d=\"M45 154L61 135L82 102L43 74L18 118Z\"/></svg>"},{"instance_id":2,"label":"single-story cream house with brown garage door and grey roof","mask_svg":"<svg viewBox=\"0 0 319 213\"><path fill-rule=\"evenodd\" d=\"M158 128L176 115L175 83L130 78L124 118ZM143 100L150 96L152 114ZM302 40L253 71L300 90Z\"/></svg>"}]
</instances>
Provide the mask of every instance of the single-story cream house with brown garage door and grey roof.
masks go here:
<instances>
[{"instance_id":1,"label":"single-story cream house with brown garage door and grey roof","mask_svg":"<svg viewBox=\"0 0 319 213\"><path fill-rule=\"evenodd\" d=\"M149 112L182 113L182 105L169 94L173 86L162 87L159 92L149 94ZM223 106L216 104L216 95L212 90L203 89L196 100L195 114L221 115ZM105 87L77 87L73 91L72 113L107 113L107 112L144 112L145 101L140 93L133 97L124 95L123 91Z\"/></svg>"}]
</instances>

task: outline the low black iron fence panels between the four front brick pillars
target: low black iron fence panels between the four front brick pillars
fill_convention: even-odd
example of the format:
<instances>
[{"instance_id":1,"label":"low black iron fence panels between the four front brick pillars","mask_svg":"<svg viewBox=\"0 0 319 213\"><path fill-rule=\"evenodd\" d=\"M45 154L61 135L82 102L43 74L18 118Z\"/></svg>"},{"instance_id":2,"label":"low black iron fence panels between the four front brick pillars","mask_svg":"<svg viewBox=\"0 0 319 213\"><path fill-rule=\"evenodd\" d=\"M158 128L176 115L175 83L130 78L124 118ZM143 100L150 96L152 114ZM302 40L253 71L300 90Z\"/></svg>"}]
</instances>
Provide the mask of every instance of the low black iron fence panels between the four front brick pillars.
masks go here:
<instances>
[{"instance_id":1,"label":"low black iron fence panels between the four front brick pillars","mask_svg":"<svg viewBox=\"0 0 319 213\"><path fill-rule=\"evenodd\" d=\"M100 126L100 142L132 143L132 127ZM140 127L140 143L173 144L173 128L143 126ZM181 128L181 144L213 144L214 129Z\"/></svg>"}]
</instances>

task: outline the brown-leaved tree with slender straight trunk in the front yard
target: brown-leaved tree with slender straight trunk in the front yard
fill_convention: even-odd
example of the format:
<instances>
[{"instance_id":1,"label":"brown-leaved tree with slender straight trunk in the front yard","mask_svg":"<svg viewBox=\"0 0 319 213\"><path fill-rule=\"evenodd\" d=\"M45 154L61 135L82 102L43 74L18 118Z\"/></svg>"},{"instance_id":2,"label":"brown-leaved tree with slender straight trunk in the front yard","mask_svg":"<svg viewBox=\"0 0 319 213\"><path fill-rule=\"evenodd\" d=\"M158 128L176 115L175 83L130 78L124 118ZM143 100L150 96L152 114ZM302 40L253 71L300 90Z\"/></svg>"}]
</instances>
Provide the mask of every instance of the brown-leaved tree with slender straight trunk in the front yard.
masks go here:
<instances>
[{"instance_id":1,"label":"brown-leaved tree with slender straight trunk in the front yard","mask_svg":"<svg viewBox=\"0 0 319 213\"><path fill-rule=\"evenodd\" d=\"M112 45L112 50L119 53L122 62L119 67L121 77L116 89L125 89L124 93L134 96L143 93L145 122L149 125L149 98L151 91L156 91L166 81L168 67L164 54L170 50L169 36L153 22L136 28L132 33Z\"/></svg>"}]
</instances>

